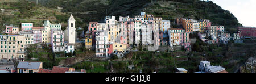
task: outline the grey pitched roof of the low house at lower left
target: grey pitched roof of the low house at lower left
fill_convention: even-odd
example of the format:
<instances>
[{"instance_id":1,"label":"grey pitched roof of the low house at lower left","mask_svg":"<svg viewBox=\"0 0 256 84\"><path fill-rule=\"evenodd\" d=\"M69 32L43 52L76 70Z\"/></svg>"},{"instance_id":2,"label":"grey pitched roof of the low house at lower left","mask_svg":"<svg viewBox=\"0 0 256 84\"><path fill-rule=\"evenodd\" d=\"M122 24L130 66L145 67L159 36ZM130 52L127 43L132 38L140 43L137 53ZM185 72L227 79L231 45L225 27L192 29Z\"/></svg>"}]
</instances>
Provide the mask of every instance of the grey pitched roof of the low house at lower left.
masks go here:
<instances>
[{"instance_id":1,"label":"grey pitched roof of the low house at lower left","mask_svg":"<svg viewBox=\"0 0 256 84\"><path fill-rule=\"evenodd\" d=\"M42 62L19 62L17 68L20 68L20 69L39 69L41 63Z\"/></svg>"}]
</instances>

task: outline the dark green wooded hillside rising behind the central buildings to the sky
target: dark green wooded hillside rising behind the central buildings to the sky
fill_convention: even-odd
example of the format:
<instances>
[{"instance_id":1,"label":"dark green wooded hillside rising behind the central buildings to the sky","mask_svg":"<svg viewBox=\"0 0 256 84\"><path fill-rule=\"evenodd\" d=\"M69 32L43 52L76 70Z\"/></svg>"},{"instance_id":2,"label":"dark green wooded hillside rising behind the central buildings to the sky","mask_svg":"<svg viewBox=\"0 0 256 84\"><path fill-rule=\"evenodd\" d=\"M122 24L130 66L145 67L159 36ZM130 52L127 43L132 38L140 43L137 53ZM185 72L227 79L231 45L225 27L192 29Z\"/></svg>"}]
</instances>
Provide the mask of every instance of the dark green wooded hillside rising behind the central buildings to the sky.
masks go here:
<instances>
[{"instance_id":1,"label":"dark green wooded hillside rising behind the central buildings to the sky","mask_svg":"<svg viewBox=\"0 0 256 84\"><path fill-rule=\"evenodd\" d=\"M30 0L35 1L35 0ZM81 18L85 26L89 22L98 22L106 15L134 16L145 11L148 14L162 16L166 20L175 18L210 19L213 25L236 28L241 26L237 18L228 10L222 9L212 1L200 0L41 0L44 6L63 7L62 12Z\"/></svg>"}]
</instances>

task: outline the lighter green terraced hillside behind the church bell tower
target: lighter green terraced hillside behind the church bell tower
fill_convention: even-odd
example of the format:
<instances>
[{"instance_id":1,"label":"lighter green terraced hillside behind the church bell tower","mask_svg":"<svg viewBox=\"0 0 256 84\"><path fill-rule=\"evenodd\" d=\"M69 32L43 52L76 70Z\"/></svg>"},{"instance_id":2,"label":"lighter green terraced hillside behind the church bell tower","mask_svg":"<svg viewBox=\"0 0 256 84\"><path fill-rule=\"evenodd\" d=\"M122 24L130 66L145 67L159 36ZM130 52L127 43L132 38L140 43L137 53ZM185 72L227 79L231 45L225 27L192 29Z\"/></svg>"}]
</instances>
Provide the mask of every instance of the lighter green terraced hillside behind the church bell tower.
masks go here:
<instances>
[{"instance_id":1,"label":"lighter green terraced hillside behind the church bell tower","mask_svg":"<svg viewBox=\"0 0 256 84\"><path fill-rule=\"evenodd\" d=\"M68 14L61 12L59 9L43 7L26 0L1 1L0 9L5 9L0 14L1 30L5 29L6 24L20 27L20 23L34 23L34 27L42 27L44 20L50 20L53 24L61 23L64 30L69 18ZM78 20L78 22L80 21Z\"/></svg>"}]
</instances>

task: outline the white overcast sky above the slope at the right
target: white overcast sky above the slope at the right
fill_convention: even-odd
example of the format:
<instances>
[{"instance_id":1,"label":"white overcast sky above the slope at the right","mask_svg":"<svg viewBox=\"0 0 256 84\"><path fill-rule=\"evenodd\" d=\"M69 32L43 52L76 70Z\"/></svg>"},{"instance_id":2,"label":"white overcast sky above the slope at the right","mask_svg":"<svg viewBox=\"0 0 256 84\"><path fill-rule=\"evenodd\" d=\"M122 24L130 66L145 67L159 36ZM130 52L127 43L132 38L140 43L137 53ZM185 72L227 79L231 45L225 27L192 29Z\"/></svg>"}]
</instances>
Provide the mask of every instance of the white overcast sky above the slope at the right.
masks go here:
<instances>
[{"instance_id":1,"label":"white overcast sky above the slope at the right","mask_svg":"<svg viewBox=\"0 0 256 84\"><path fill-rule=\"evenodd\" d=\"M229 10L243 26L256 27L256 0L212 0Z\"/></svg>"}]
</instances>

